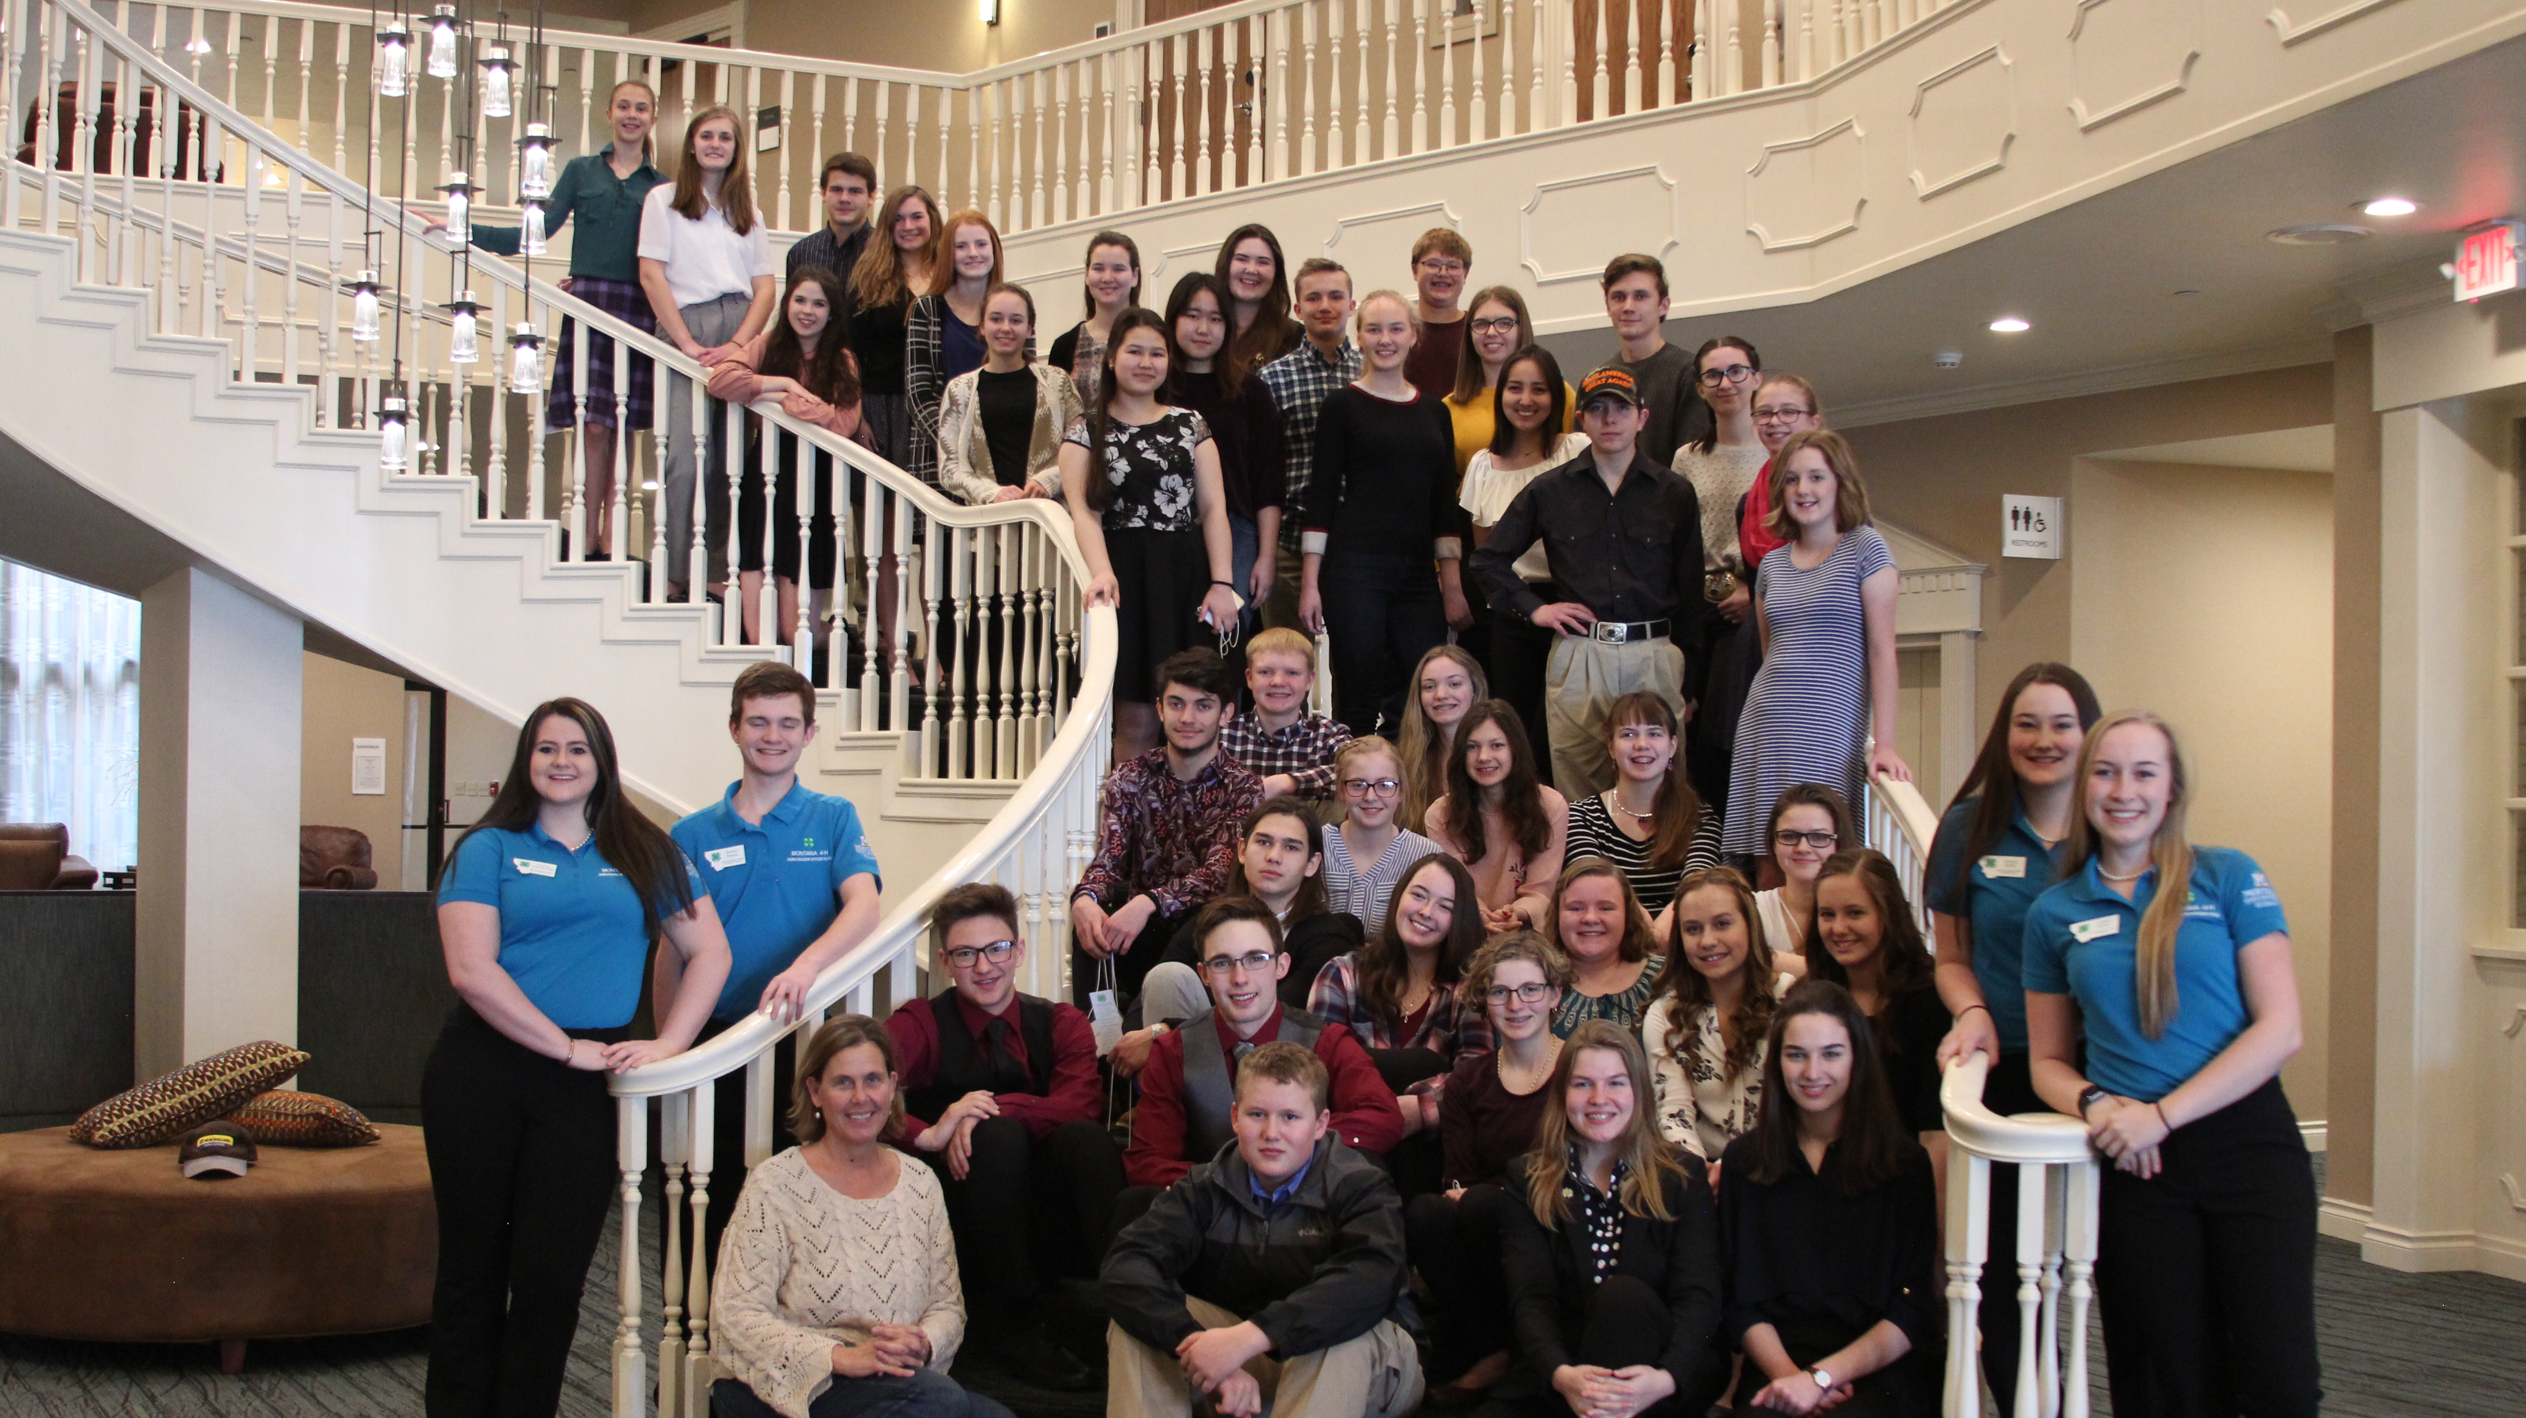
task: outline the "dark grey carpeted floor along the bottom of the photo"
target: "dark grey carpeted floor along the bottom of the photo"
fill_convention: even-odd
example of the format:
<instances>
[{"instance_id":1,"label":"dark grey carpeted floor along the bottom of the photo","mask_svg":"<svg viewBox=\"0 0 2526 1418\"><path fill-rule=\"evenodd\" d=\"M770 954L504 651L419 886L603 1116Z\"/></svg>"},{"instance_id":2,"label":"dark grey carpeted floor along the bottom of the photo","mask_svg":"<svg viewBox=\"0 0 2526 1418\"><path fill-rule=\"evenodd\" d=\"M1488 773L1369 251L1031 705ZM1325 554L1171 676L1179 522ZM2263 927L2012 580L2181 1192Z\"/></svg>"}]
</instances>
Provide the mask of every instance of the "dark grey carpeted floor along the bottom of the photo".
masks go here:
<instances>
[{"instance_id":1,"label":"dark grey carpeted floor along the bottom of the photo","mask_svg":"<svg viewBox=\"0 0 2526 1418\"><path fill-rule=\"evenodd\" d=\"M606 1236L616 1231L609 1226ZM642 1226L654 1244L657 1231ZM654 1257L644 1267L657 1274ZM561 1395L566 1418L611 1410L614 1251L589 1274L586 1317ZM25 1284L15 1279L13 1284ZM1053 1297L1056 1315L1094 1332L1084 1294ZM657 1335L657 1292L644 1302ZM2526 1284L2486 1274L2400 1274L2364 1264L2347 1241L2316 1241L2316 1330L2324 1410L2337 1418L2518 1418L2526 1413ZM245 1373L225 1378L210 1345L81 1345L0 1335L5 1418L369 1418L422 1410L424 1337L417 1330L344 1340L258 1342ZM1026 1385L983 1360L955 1375L1008 1403L1018 1418L1086 1418L1104 1395ZM2097 1413L2112 1413L2102 1385Z\"/></svg>"}]
</instances>

